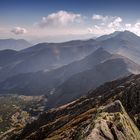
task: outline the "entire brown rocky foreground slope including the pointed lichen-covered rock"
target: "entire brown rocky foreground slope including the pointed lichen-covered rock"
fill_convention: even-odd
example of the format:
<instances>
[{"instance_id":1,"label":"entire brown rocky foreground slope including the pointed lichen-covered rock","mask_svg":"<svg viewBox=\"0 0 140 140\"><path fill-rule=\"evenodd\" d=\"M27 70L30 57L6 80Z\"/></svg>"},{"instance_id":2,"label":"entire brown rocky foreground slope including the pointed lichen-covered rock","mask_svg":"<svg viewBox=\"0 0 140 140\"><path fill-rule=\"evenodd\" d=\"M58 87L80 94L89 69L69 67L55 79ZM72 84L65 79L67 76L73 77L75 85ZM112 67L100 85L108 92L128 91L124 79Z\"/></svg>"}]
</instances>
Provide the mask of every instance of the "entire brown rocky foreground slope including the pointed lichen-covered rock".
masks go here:
<instances>
[{"instance_id":1,"label":"entire brown rocky foreground slope including the pointed lichen-covered rock","mask_svg":"<svg viewBox=\"0 0 140 140\"><path fill-rule=\"evenodd\" d=\"M12 140L139 140L140 75L105 83L87 96L42 113ZM105 107L102 107L105 106Z\"/></svg>"}]
</instances>

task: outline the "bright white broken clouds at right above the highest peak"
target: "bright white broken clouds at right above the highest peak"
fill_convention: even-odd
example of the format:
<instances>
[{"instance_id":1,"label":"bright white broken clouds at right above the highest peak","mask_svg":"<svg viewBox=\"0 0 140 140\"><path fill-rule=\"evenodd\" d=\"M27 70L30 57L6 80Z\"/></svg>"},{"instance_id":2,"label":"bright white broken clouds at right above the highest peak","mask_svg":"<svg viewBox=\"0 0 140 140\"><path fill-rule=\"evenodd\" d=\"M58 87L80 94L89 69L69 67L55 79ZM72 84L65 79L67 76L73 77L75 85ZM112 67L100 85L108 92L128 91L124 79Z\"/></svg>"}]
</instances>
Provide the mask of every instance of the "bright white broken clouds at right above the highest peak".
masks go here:
<instances>
[{"instance_id":1,"label":"bright white broken clouds at right above the highest peak","mask_svg":"<svg viewBox=\"0 0 140 140\"><path fill-rule=\"evenodd\" d=\"M140 36L140 21L137 20L134 24L126 23L119 16L102 16L94 15L92 17L94 20L99 20L100 22L94 22L92 27L88 28L88 33L96 36L103 34L110 34L114 31L124 31L129 30Z\"/></svg>"}]
</instances>

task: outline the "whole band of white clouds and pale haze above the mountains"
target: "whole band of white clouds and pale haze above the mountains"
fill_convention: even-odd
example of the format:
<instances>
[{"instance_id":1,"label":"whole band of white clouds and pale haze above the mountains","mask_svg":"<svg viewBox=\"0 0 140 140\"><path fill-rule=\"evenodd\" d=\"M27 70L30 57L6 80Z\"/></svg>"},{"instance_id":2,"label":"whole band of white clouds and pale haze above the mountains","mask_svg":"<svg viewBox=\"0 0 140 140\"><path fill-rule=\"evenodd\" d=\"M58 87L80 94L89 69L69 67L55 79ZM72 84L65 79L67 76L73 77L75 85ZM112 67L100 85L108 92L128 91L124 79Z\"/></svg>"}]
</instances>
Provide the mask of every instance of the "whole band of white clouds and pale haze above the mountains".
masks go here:
<instances>
[{"instance_id":1,"label":"whole band of white clouds and pale haze above the mountains","mask_svg":"<svg viewBox=\"0 0 140 140\"><path fill-rule=\"evenodd\" d=\"M92 20L91 20L92 18ZM88 20L89 19L89 20ZM133 21L134 22L134 21ZM46 28L40 28L46 27ZM0 32L4 36L10 36L9 31L11 26L0 28ZM116 30L129 30L140 35L140 21L135 23L127 23L119 16L97 15L92 17L84 17L84 15L58 11L42 18L42 21L37 23L37 26L25 26L28 34L23 35L26 39L44 41L63 41L75 38L88 38L110 34ZM11 30L14 34L24 34L27 32L25 28L15 27ZM20 36L16 36L19 38ZM65 38L65 39L64 39Z\"/></svg>"}]
</instances>

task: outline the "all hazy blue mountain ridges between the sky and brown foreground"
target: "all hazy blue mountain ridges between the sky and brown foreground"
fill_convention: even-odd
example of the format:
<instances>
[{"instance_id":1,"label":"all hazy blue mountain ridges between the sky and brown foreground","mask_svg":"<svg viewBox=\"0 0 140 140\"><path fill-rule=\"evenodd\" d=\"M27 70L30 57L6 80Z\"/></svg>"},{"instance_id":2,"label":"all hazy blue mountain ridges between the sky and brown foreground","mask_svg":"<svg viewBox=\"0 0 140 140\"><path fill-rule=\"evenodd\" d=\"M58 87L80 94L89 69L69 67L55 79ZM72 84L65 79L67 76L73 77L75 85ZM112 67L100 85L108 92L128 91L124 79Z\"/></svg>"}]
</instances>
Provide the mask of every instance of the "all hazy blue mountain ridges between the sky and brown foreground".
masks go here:
<instances>
[{"instance_id":1,"label":"all hazy blue mountain ridges between the sky and brown foreground","mask_svg":"<svg viewBox=\"0 0 140 140\"><path fill-rule=\"evenodd\" d=\"M97 39L2 50L0 93L45 94L48 107L67 103L107 81L140 73L139 46L139 36L117 31Z\"/></svg>"}]
</instances>

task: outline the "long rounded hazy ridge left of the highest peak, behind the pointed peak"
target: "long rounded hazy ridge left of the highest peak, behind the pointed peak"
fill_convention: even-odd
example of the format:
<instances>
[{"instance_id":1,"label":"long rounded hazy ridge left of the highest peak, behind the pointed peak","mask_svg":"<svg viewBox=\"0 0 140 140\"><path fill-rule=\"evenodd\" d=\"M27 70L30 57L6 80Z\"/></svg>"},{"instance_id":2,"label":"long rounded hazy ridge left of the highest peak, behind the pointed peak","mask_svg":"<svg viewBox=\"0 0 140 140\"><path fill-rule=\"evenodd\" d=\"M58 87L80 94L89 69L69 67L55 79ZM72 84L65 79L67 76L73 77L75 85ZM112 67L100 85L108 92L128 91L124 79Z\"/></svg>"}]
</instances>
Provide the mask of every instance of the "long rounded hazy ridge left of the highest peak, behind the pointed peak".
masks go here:
<instances>
[{"instance_id":1,"label":"long rounded hazy ridge left of the highest peak, behind the pointed peak","mask_svg":"<svg viewBox=\"0 0 140 140\"><path fill-rule=\"evenodd\" d=\"M14 61L4 64L0 70L0 81L20 73L52 69L79 60L97 49L95 40L65 43L40 43L19 51Z\"/></svg>"}]
</instances>

